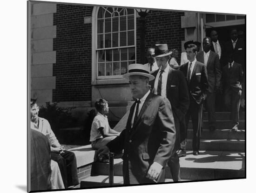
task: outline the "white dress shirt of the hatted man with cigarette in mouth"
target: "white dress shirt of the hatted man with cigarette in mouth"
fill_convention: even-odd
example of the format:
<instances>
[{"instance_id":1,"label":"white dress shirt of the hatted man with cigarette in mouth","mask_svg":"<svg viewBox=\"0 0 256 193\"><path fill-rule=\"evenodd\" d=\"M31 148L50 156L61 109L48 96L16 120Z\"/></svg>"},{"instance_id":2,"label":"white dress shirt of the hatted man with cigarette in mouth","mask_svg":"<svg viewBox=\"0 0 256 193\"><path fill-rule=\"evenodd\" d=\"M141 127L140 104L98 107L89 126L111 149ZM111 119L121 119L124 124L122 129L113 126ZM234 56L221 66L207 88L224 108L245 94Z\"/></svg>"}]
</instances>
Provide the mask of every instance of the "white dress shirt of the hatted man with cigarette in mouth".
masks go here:
<instances>
[{"instance_id":1,"label":"white dress shirt of the hatted man with cigarette in mouth","mask_svg":"<svg viewBox=\"0 0 256 193\"><path fill-rule=\"evenodd\" d=\"M161 87L161 96L166 98L166 85L167 85L167 78L168 78L168 72L169 72L169 64L167 62L167 66L164 69L164 72L162 73L162 87ZM157 94L157 86L158 86L158 80L160 76L161 70L158 71L155 77L155 84L154 84L154 94Z\"/></svg>"}]
</instances>

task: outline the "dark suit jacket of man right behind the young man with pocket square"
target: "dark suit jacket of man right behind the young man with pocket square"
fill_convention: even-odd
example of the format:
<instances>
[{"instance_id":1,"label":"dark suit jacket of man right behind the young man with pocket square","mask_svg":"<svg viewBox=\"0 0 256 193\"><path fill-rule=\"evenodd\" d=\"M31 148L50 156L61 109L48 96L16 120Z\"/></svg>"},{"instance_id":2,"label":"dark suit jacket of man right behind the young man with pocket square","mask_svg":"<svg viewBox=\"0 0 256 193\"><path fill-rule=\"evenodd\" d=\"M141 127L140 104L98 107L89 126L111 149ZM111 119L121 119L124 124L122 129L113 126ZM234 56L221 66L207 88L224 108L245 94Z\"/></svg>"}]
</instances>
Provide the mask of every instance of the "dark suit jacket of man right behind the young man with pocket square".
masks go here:
<instances>
[{"instance_id":1,"label":"dark suit jacket of man right behind the young man with pocket square","mask_svg":"<svg viewBox=\"0 0 256 193\"><path fill-rule=\"evenodd\" d=\"M201 63L204 63L203 51L197 54L196 60ZM221 72L219 55L213 51L210 51L207 64L205 65L207 68L209 93L214 93L216 87L220 87L221 85L222 72Z\"/></svg>"}]
</instances>

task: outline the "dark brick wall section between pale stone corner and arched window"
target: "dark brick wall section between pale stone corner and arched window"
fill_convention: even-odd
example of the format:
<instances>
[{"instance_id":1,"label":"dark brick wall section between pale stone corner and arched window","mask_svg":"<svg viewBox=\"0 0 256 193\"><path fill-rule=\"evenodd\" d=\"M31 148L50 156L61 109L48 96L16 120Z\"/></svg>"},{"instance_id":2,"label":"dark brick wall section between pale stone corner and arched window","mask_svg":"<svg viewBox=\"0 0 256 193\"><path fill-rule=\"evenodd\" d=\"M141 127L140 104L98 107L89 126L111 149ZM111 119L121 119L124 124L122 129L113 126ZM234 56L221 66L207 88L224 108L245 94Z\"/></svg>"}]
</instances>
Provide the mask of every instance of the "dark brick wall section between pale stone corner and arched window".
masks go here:
<instances>
[{"instance_id":1,"label":"dark brick wall section between pale stone corner and arched window","mask_svg":"<svg viewBox=\"0 0 256 193\"><path fill-rule=\"evenodd\" d=\"M91 100L91 23L84 24L84 17L91 7L57 5L54 25L56 63L53 75L56 89L53 101Z\"/></svg>"}]
</instances>

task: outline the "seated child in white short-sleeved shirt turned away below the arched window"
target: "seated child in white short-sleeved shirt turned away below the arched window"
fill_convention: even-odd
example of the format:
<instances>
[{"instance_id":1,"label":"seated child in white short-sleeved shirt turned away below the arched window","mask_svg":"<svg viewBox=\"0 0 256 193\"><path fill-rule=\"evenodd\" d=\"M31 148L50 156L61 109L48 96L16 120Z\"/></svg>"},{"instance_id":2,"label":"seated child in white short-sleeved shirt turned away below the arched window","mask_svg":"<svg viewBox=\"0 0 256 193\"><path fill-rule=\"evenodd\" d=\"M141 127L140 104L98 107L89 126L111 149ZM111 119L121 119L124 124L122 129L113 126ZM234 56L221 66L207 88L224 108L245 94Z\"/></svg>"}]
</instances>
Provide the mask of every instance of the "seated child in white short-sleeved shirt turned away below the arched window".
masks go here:
<instances>
[{"instance_id":1,"label":"seated child in white short-sleeved shirt turned away below the arched window","mask_svg":"<svg viewBox=\"0 0 256 193\"><path fill-rule=\"evenodd\" d=\"M108 124L108 102L104 99L98 99L95 102L95 108L98 113L92 123L90 142L93 149L99 149L107 145L109 141L114 140L120 133L111 129Z\"/></svg>"}]
</instances>

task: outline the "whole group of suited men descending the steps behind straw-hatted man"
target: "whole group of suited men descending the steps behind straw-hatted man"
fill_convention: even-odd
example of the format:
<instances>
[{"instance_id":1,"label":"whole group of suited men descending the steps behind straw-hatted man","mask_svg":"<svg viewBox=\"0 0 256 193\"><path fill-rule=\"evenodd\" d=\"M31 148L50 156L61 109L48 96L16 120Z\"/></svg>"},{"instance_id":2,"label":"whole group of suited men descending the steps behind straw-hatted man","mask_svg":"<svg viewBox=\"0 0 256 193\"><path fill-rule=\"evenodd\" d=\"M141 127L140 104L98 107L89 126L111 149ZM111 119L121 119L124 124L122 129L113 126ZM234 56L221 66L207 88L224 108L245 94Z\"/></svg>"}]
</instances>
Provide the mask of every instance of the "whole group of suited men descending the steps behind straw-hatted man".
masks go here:
<instances>
[{"instance_id":1,"label":"whole group of suited men descending the steps behind straw-hatted man","mask_svg":"<svg viewBox=\"0 0 256 193\"><path fill-rule=\"evenodd\" d=\"M163 182L166 164L173 180L179 181L179 157L186 156L189 119L196 156L200 153L203 106L208 111L209 130L216 129L216 95L223 96L231 112L234 126L230 130L238 130L245 79L244 42L237 38L236 29L231 30L225 44L218 40L216 31L210 36L203 39L202 52L199 42L186 42L186 58L183 54L182 60L187 61L179 67L170 65L172 51L168 45L156 44L148 49L147 64L131 64L123 75L129 80L135 103L125 129L97 154L124 151L125 184Z\"/></svg>"}]
</instances>

